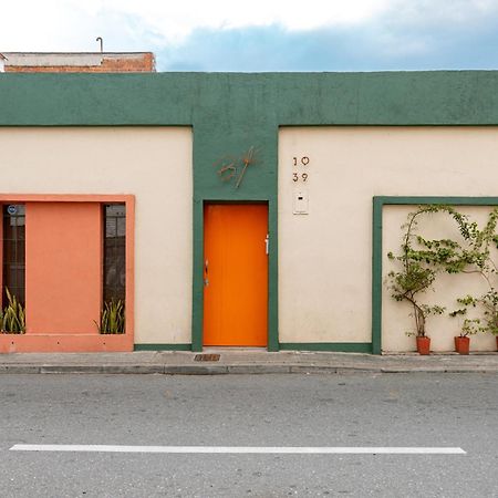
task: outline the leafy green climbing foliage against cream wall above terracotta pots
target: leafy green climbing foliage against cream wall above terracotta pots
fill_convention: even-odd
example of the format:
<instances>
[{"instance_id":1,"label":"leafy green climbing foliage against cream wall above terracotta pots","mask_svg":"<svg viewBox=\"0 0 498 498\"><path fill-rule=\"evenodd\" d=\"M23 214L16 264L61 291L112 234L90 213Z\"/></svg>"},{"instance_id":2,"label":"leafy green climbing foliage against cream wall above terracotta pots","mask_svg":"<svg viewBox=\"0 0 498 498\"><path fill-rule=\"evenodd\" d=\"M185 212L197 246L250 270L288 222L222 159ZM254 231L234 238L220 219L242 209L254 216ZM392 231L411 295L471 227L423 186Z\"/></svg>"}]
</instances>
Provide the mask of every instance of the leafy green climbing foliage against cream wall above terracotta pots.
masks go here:
<instances>
[{"instance_id":1,"label":"leafy green climbing foliage against cream wall above terracotta pots","mask_svg":"<svg viewBox=\"0 0 498 498\"><path fill-rule=\"evenodd\" d=\"M415 234L421 216L446 214L457 225L461 240L426 239ZM387 274L392 298L396 301L407 301L414 309L416 334L425 335L425 323L428 315L442 314L444 308L421 304L418 297L430 289L439 272L446 273L479 273L488 284L488 291L483 295L466 295L458 298L461 308L449 313L450 317L464 317L468 308L476 308L480 318L465 318L460 335L477 332L490 332L498 335L498 268L492 259L491 249L498 249L498 208L494 208L483 229L476 221L470 221L466 215L458 212L452 206L429 205L418 206L411 212L404 230L401 252L387 253L391 261L398 262L400 271Z\"/></svg>"}]
</instances>

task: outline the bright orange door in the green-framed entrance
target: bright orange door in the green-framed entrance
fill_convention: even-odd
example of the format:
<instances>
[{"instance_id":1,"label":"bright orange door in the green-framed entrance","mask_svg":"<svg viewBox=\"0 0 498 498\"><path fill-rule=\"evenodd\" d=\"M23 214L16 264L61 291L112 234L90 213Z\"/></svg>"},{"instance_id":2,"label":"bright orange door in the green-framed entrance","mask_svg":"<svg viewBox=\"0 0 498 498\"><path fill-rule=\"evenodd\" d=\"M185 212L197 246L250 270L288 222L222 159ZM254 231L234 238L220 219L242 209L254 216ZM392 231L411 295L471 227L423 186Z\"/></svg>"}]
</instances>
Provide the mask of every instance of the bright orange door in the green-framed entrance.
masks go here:
<instances>
[{"instance_id":1,"label":"bright orange door in the green-framed entrance","mask_svg":"<svg viewBox=\"0 0 498 498\"><path fill-rule=\"evenodd\" d=\"M204 345L266 346L268 206L207 205Z\"/></svg>"}]
</instances>

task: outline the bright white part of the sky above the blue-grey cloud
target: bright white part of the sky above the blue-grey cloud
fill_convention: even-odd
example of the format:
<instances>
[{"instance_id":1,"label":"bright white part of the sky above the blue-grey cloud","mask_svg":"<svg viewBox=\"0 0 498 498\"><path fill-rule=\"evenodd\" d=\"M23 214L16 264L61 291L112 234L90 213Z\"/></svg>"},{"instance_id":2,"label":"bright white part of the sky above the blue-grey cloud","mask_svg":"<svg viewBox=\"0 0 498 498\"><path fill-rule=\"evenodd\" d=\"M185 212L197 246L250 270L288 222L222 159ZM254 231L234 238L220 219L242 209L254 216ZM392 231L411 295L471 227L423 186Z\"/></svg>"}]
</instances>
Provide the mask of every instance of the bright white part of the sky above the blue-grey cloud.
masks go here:
<instances>
[{"instance_id":1,"label":"bright white part of the sky above the blue-grey cloud","mask_svg":"<svg viewBox=\"0 0 498 498\"><path fill-rule=\"evenodd\" d=\"M418 0L414 0L417 2ZM437 0L436 0L437 1ZM474 0L473 0L474 1ZM479 0L486 3L488 0ZM364 23L398 0L9 0L0 17L0 50L129 50L143 38L180 43L195 28L279 23L289 30ZM452 1L448 1L452 3Z\"/></svg>"}]
</instances>

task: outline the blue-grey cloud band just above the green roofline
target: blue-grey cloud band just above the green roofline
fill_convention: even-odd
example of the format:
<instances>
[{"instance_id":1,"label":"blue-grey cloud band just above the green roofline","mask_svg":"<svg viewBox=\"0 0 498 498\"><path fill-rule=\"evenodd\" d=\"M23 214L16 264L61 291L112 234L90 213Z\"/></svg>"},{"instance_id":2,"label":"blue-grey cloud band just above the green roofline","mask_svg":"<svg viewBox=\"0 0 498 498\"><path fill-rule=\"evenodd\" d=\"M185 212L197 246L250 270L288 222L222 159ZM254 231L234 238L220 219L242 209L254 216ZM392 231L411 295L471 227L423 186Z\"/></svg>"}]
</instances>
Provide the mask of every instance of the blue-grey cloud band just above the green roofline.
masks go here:
<instances>
[{"instance_id":1,"label":"blue-grey cloud band just above the green roofline","mask_svg":"<svg viewBox=\"0 0 498 498\"><path fill-rule=\"evenodd\" d=\"M157 51L159 71L381 71L498 68L498 20L438 27L196 30Z\"/></svg>"}]
</instances>

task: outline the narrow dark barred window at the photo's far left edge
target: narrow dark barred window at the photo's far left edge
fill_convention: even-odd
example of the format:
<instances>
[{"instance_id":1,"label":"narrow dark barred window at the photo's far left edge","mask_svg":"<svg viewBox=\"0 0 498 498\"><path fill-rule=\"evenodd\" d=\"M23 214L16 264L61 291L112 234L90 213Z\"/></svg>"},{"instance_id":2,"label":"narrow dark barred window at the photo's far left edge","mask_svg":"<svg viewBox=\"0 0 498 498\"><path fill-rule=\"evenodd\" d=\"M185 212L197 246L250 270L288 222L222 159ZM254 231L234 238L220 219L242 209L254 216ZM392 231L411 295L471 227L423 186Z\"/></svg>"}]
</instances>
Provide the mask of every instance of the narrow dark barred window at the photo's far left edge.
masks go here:
<instances>
[{"instance_id":1,"label":"narrow dark barred window at the photo's far left edge","mask_svg":"<svg viewBox=\"0 0 498 498\"><path fill-rule=\"evenodd\" d=\"M2 307L7 305L7 292L25 303L25 206L4 205L3 214L3 288Z\"/></svg>"}]
</instances>

